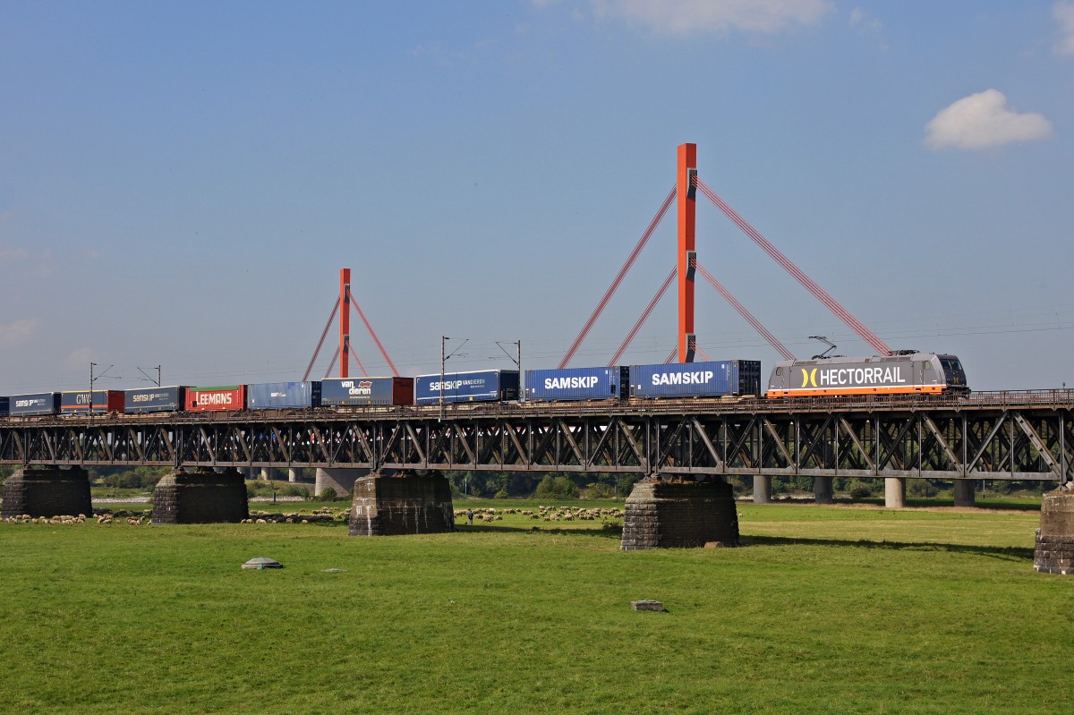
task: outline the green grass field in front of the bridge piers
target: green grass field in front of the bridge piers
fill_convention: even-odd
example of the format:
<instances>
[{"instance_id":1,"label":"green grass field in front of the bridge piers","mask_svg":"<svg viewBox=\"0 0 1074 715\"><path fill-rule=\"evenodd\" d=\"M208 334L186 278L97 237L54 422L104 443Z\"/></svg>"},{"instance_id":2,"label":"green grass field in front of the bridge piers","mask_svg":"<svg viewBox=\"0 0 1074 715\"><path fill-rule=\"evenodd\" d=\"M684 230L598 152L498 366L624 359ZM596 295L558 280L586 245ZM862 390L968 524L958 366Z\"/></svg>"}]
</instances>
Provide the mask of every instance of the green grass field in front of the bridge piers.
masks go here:
<instances>
[{"instance_id":1,"label":"green grass field in front of the bridge piers","mask_svg":"<svg viewBox=\"0 0 1074 715\"><path fill-rule=\"evenodd\" d=\"M512 515L0 524L0 711L1070 712L1074 580L1032 571L1036 512L739 513L742 549L629 553Z\"/></svg>"}]
</instances>

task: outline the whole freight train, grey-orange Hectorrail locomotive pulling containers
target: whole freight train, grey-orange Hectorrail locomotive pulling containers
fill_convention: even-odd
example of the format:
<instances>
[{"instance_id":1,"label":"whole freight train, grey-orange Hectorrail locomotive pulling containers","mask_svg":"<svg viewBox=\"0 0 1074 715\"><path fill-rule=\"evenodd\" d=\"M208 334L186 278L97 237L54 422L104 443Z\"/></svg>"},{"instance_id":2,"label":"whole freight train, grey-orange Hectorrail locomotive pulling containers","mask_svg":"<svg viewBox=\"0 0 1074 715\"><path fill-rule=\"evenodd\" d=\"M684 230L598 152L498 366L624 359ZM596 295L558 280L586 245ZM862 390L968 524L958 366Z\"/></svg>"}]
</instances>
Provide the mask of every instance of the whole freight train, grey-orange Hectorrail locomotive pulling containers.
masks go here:
<instances>
[{"instance_id":1,"label":"whole freight train, grey-orange Hectorrail locomotive pulling containers","mask_svg":"<svg viewBox=\"0 0 1074 715\"><path fill-rule=\"evenodd\" d=\"M760 389L760 362L477 370L404 377L332 378L220 386L84 390L0 397L0 417L218 412L489 402L964 394L955 355L910 353L825 358L775 364Z\"/></svg>"}]
</instances>

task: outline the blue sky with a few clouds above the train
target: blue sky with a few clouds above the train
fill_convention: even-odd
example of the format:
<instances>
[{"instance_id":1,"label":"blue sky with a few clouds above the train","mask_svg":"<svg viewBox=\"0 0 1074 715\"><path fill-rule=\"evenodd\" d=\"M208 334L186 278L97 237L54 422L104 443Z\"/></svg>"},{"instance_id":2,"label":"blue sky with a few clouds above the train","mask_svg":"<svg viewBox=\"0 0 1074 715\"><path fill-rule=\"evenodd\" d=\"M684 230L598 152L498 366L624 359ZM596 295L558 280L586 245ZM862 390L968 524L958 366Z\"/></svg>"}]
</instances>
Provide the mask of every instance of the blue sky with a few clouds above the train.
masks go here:
<instances>
[{"instance_id":1,"label":"blue sky with a few clouds above the train","mask_svg":"<svg viewBox=\"0 0 1074 715\"><path fill-rule=\"evenodd\" d=\"M1072 0L0 0L0 395L90 363L97 389L302 379L344 267L403 375L441 336L449 370L517 341L555 367L683 143L891 348L1074 386ZM672 210L572 366L607 364L676 246ZM872 354L703 196L697 250L797 356ZM705 353L767 374L696 293ZM620 362L664 362L676 310Z\"/></svg>"}]
</instances>

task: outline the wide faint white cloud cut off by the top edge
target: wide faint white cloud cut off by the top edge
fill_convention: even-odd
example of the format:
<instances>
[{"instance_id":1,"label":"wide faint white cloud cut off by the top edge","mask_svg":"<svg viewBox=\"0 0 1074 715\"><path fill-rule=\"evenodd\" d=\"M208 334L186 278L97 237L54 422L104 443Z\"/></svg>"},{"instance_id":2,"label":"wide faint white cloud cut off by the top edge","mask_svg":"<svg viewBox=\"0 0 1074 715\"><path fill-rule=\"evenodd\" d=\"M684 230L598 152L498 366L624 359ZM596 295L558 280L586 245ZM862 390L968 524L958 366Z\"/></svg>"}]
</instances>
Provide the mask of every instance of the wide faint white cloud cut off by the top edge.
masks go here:
<instances>
[{"instance_id":1,"label":"wide faint white cloud cut off by the top edge","mask_svg":"<svg viewBox=\"0 0 1074 715\"><path fill-rule=\"evenodd\" d=\"M828 0L592 0L597 18L623 19L668 34L691 32L775 33L812 25Z\"/></svg>"}]
</instances>

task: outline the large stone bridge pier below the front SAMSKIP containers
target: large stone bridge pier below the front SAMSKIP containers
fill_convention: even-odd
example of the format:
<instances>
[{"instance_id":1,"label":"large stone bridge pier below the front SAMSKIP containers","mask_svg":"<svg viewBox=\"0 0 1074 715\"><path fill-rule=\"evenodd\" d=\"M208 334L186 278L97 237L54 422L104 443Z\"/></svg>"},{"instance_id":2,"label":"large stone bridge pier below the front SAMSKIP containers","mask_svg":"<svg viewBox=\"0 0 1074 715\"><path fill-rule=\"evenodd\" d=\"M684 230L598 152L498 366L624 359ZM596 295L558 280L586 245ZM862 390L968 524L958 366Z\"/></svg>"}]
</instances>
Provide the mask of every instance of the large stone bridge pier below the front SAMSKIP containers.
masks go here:
<instances>
[{"instance_id":1,"label":"large stone bridge pier below the front SAMSKIP containers","mask_svg":"<svg viewBox=\"0 0 1074 715\"><path fill-rule=\"evenodd\" d=\"M634 485L623 515L623 551L739 544L731 485L644 479Z\"/></svg>"}]
</instances>

